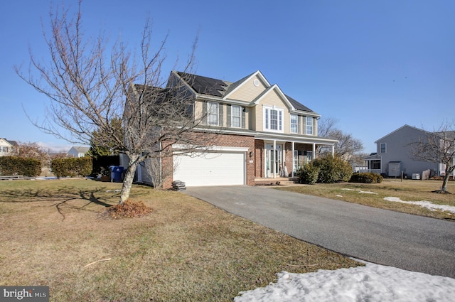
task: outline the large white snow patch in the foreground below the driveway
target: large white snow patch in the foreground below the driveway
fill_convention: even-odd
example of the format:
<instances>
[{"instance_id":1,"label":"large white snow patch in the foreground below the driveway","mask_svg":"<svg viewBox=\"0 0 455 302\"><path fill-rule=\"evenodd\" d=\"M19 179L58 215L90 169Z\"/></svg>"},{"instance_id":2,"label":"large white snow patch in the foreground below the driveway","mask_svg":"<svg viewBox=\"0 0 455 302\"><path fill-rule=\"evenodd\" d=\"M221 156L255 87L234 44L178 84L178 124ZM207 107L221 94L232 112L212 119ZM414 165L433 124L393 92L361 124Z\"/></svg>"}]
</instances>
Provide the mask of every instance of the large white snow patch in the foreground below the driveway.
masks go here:
<instances>
[{"instance_id":1,"label":"large white snow patch in the foreground below the driveway","mask_svg":"<svg viewBox=\"0 0 455 302\"><path fill-rule=\"evenodd\" d=\"M278 281L243 291L235 302L453 302L455 279L367 263L366 266L319 270L307 274L282 271Z\"/></svg>"}]
</instances>

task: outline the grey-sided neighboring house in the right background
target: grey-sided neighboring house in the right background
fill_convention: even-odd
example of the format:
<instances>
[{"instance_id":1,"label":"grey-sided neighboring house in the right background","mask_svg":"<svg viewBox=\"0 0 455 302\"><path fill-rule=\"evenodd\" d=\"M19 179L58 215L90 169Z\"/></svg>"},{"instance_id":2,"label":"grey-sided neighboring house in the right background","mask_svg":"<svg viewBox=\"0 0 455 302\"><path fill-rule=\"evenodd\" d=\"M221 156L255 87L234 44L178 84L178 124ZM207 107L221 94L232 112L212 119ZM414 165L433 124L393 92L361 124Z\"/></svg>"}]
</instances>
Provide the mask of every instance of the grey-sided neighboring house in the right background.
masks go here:
<instances>
[{"instance_id":1,"label":"grey-sided neighboring house in the right background","mask_svg":"<svg viewBox=\"0 0 455 302\"><path fill-rule=\"evenodd\" d=\"M375 141L377 151L365 157L368 171L387 177L422 179L422 172L430 170L430 176L441 175L443 165L412 159L412 146L427 138L427 131L405 125Z\"/></svg>"}]
</instances>

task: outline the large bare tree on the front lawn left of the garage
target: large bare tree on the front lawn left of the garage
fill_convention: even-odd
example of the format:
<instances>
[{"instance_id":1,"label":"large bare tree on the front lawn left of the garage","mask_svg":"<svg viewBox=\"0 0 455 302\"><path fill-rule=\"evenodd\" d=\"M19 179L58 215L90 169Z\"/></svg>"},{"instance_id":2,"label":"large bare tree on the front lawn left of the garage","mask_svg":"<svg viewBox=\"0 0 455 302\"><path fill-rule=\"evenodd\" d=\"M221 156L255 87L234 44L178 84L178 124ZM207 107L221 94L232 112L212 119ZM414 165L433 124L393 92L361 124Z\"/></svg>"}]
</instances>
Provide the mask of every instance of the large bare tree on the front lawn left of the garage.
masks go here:
<instances>
[{"instance_id":1,"label":"large bare tree on the front lawn left of the garage","mask_svg":"<svg viewBox=\"0 0 455 302\"><path fill-rule=\"evenodd\" d=\"M184 92L183 84L167 82L161 74L166 38L152 51L151 26L146 21L138 53L122 41L109 48L102 33L84 36L81 6L79 1L73 17L65 9L55 9L55 14L50 10L50 35L44 34L49 62L42 63L30 51L31 70L38 72L38 80L31 71L26 76L16 67L16 72L50 98L47 118L36 126L73 143L117 146L115 151L127 156L122 204L129 198L141 161L171 156L173 144L191 152L214 135L200 128L203 117L195 117L193 96ZM183 72L193 69L196 44L197 38ZM114 119L122 119L122 136L110 122ZM106 135L94 135L95 130Z\"/></svg>"}]
</instances>

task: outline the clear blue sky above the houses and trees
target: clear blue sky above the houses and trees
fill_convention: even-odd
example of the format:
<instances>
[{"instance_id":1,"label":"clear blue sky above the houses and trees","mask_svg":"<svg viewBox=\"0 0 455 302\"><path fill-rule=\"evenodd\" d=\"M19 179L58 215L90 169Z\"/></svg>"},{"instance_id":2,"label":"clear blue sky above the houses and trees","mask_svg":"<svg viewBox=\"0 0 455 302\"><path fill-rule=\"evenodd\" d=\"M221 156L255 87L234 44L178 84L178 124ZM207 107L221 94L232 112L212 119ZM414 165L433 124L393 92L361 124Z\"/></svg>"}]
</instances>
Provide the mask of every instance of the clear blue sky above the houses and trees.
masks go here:
<instances>
[{"instance_id":1,"label":"clear blue sky above the houses and trees","mask_svg":"<svg viewBox=\"0 0 455 302\"><path fill-rule=\"evenodd\" d=\"M54 4L61 4L54 1ZM77 7L77 1L66 4ZM48 60L41 20L50 1L2 1L0 18L0 137L68 144L43 134L26 117L43 119L48 100L23 82L28 45ZM272 84L336 126L374 141L410 124L432 130L455 120L455 1L154 1L86 0L87 33L139 41L147 14L157 41L169 33L171 72L199 32L196 73L235 81L261 70Z\"/></svg>"}]
</instances>

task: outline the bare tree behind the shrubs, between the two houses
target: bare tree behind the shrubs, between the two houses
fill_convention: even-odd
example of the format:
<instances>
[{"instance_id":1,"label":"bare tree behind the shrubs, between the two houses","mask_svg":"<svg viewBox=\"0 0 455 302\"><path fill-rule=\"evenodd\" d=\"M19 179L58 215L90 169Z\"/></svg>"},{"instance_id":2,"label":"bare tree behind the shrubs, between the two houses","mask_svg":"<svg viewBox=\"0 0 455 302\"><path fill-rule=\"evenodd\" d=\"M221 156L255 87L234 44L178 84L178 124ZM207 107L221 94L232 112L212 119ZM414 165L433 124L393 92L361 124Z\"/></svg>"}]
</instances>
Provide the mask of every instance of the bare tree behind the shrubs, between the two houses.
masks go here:
<instances>
[{"instance_id":1,"label":"bare tree behind the shrubs, between the two houses","mask_svg":"<svg viewBox=\"0 0 455 302\"><path fill-rule=\"evenodd\" d=\"M334 156L350 161L355 153L363 150L362 141L355 139L352 134L343 133L340 129L336 128L337 119L327 117L321 119L318 124L318 135L327 139L336 139L338 143L335 145ZM320 146L316 150L317 156L322 156L323 153L329 152L324 146Z\"/></svg>"}]
</instances>

